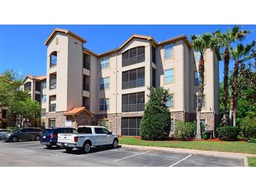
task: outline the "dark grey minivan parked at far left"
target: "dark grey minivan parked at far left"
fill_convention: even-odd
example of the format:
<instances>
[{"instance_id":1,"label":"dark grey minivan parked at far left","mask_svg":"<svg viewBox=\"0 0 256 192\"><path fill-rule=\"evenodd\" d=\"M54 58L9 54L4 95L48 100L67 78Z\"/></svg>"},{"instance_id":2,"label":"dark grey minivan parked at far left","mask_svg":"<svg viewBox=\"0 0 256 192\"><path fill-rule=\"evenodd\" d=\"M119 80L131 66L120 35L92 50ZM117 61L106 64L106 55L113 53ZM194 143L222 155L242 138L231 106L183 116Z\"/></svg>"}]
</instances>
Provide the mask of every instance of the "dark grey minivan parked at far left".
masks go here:
<instances>
[{"instance_id":1,"label":"dark grey minivan parked at far left","mask_svg":"<svg viewBox=\"0 0 256 192\"><path fill-rule=\"evenodd\" d=\"M21 140L40 141L41 129L39 128L21 128L4 135L6 142L18 142Z\"/></svg>"}]
</instances>

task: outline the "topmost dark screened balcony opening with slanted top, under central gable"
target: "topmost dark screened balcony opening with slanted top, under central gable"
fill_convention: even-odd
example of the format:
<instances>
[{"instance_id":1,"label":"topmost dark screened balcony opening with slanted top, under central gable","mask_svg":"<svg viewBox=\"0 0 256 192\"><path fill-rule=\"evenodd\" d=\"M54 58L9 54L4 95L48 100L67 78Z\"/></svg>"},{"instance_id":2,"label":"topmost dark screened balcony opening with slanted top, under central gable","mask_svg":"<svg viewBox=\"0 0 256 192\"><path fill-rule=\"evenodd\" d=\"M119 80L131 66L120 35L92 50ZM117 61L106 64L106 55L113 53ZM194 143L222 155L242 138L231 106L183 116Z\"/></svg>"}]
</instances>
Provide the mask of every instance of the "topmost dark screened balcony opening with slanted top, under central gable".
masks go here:
<instances>
[{"instance_id":1,"label":"topmost dark screened balcony opening with slanted top, under central gable","mask_svg":"<svg viewBox=\"0 0 256 192\"><path fill-rule=\"evenodd\" d=\"M145 47L139 46L122 53L122 67L145 61Z\"/></svg>"}]
</instances>

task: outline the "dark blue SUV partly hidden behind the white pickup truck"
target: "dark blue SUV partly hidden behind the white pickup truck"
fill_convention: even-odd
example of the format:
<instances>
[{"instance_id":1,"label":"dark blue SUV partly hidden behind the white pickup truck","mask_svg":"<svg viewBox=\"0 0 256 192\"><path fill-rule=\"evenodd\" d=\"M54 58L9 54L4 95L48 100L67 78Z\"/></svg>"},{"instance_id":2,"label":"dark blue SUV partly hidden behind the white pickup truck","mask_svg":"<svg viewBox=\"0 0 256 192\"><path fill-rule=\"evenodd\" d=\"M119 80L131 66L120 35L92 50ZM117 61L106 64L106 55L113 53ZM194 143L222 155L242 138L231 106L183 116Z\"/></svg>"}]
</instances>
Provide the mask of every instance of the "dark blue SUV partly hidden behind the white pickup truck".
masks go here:
<instances>
[{"instance_id":1,"label":"dark blue SUV partly hidden behind the white pickup truck","mask_svg":"<svg viewBox=\"0 0 256 192\"><path fill-rule=\"evenodd\" d=\"M57 146L59 133L74 133L74 132L76 132L76 129L74 128L46 129L42 133L40 143L45 145L48 149L50 149L52 146Z\"/></svg>"}]
</instances>

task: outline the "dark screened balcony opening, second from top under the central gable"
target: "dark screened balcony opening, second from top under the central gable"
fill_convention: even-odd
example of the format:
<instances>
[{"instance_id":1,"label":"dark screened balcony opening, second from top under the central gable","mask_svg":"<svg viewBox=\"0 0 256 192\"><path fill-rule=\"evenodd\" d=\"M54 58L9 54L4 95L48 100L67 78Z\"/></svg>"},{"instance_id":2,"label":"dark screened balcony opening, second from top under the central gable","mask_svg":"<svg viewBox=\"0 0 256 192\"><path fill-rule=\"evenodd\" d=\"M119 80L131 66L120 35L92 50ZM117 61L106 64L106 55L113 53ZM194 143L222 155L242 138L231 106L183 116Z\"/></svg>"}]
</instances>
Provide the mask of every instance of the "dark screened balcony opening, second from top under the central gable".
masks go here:
<instances>
[{"instance_id":1,"label":"dark screened balcony opening, second from top under the central gable","mask_svg":"<svg viewBox=\"0 0 256 192\"><path fill-rule=\"evenodd\" d=\"M122 89L138 88L145 84L144 67L122 72Z\"/></svg>"}]
</instances>

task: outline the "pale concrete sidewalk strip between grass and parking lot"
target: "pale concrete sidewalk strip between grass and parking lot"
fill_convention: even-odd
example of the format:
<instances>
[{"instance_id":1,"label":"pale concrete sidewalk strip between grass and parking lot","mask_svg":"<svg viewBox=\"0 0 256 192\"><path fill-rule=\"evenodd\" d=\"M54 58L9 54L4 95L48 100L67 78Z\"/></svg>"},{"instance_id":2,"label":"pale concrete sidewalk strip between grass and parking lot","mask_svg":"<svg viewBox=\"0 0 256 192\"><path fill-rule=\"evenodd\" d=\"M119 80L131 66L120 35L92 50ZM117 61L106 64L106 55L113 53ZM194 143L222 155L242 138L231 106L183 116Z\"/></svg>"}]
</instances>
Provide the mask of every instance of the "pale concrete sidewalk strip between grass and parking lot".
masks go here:
<instances>
[{"instance_id":1,"label":"pale concrete sidewalk strip between grass and parking lot","mask_svg":"<svg viewBox=\"0 0 256 192\"><path fill-rule=\"evenodd\" d=\"M121 144L121 146L124 148L130 148L130 149L168 151L171 153L186 153L186 154L192 154L192 155L238 158L238 159L244 159L244 160L245 158L247 160L247 157L256 157L256 154L250 154L250 153L203 151L203 150L197 150L197 149L180 149L180 148L159 147L159 146L137 146L137 145L128 145L128 144Z\"/></svg>"}]
</instances>

